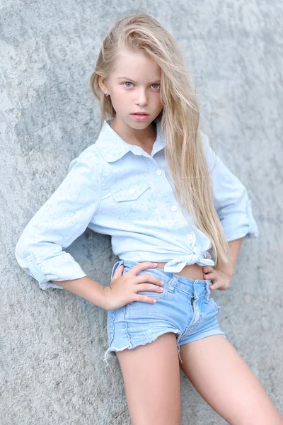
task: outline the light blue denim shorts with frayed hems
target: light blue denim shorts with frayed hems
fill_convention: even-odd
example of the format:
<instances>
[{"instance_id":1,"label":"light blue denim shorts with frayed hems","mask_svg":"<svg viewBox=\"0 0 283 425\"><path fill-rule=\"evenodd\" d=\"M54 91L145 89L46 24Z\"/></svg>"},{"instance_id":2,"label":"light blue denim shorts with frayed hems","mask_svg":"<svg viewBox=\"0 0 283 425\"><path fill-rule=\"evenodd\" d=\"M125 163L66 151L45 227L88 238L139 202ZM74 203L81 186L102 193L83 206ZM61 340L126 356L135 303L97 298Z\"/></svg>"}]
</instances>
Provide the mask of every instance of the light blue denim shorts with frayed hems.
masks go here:
<instances>
[{"instance_id":1,"label":"light blue denim shorts with frayed hems","mask_svg":"<svg viewBox=\"0 0 283 425\"><path fill-rule=\"evenodd\" d=\"M112 267L112 276L117 267L124 264L123 274L138 264L137 261L120 260ZM195 280L164 271L162 268L147 268L143 273L150 273L163 280L163 293L139 291L154 297L156 303L134 301L117 310L108 310L107 333L108 349L104 361L108 363L108 354L115 356L115 351L125 348L132 350L137 346L154 341L166 332L174 332L180 358L180 345L210 335L223 335L219 327L217 314L220 307L209 295L212 284L210 279ZM183 363L182 359L180 361Z\"/></svg>"}]
</instances>

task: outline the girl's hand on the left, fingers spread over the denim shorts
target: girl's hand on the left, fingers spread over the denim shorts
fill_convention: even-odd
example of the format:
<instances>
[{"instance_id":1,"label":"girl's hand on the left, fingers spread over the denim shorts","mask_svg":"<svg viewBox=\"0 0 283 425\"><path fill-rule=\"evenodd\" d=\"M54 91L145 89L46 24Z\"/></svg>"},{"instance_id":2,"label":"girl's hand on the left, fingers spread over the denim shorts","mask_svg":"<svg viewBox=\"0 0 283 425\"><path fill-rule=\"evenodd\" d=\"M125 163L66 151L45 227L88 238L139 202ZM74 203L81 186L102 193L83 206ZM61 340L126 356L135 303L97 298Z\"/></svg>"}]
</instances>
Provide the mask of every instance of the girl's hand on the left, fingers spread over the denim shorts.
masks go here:
<instances>
[{"instance_id":1,"label":"girl's hand on the left, fingers spread over the denim shorts","mask_svg":"<svg viewBox=\"0 0 283 425\"><path fill-rule=\"evenodd\" d=\"M151 290L157 293L163 292L163 282L161 279L150 273L142 273L137 276L141 271L147 268L156 267L156 263L151 261L144 261L136 264L127 273L123 274L124 265L121 264L116 268L112 276L109 286L104 286L105 293L105 310L116 310L117 308L124 307L124 305L133 301L148 302L154 304L156 300L153 297L137 294L141 290ZM146 282L146 283L144 283ZM150 283L149 283L150 282Z\"/></svg>"}]
</instances>

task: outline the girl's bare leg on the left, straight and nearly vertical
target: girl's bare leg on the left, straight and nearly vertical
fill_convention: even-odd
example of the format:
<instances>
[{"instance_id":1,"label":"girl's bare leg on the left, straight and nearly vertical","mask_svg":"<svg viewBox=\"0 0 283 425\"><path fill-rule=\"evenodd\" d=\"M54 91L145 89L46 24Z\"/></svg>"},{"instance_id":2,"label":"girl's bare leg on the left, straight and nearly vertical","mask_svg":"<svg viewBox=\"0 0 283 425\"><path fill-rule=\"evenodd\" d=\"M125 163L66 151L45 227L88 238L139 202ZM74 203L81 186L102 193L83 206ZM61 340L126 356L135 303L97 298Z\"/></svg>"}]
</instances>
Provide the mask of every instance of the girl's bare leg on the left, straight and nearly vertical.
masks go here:
<instances>
[{"instance_id":1,"label":"girl's bare leg on the left, straight and nearly vertical","mask_svg":"<svg viewBox=\"0 0 283 425\"><path fill-rule=\"evenodd\" d=\"M132 425L180 425L180 368L176 336L116 351Z\"/></svg>"}]
</instances>

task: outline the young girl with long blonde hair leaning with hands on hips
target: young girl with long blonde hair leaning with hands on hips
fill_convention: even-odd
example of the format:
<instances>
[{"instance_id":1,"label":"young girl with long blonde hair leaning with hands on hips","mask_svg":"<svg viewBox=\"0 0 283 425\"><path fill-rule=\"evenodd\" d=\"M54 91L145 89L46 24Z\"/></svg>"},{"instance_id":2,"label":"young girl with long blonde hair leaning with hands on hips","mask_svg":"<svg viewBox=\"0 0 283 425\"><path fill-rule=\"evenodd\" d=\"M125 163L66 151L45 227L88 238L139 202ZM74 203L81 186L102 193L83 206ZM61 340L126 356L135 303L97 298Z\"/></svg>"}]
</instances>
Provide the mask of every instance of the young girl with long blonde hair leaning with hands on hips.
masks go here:
<instances>
[{"instance_id":1,"label":"young girl with long blonde hair leaning with hands on hips","mask_svg":"<svg viewBox=\"0 0 283 425\"><path fill-rule=\"evenodd\" d=\"M100 133L25 227L20 266L108 311L109 348L136 425L180 424L180 367L229 424L283 419L219 327L244 237L257 237L245 186L199 128L185 62L154 18L120 18L91 76ZM63 251L86 227L110 234L109 286ZM228 243L229 242L229 243Z\"/></svg>"}]
</instances>

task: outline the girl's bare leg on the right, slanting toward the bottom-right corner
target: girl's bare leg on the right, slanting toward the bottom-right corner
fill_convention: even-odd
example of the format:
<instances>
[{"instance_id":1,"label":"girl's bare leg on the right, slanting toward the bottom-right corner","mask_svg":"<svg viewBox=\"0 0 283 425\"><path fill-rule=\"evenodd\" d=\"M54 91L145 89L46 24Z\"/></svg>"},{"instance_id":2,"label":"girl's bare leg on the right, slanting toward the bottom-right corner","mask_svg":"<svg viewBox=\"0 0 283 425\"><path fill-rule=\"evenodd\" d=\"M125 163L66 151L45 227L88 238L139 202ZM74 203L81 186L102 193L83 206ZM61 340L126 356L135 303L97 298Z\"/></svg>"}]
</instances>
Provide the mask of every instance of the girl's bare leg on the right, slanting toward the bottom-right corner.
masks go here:
<instances>
[{"instance_id":1,"label":"girl's bare leg on the right, slanting toward the bottom-right corner","mask_svg":"<svg viewBox=\"0 0 283 425\"><path fill-rule=\"evenodd\" d=\"M231 425L282 425L283 419L236 348L222 335L180 346L181 368Z\"/></svg>"}]
</instances>

